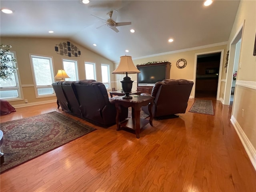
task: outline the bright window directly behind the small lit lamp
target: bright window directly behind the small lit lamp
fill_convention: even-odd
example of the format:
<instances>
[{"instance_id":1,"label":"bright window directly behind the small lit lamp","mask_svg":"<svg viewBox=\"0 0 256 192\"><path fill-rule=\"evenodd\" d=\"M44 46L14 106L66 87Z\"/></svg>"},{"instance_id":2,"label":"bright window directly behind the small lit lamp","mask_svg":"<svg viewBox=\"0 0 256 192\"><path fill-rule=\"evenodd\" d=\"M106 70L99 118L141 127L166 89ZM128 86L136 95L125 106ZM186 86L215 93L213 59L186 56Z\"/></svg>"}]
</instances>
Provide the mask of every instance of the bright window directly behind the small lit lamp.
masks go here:
<instances>
[{"instance_id":1,"label":"bright window directly behind the small lit lamp","mask_svg":"<svg viewBox=\"0 0 256 192\"><path fill-rule=\"evenodd\" d=\"M67 81L77 81L78 80L78 72L77 72L77 61L74 60L66 60L63 59L63 68L70 76L70 78L66 78Z\"/></svg>"}]
</instances>

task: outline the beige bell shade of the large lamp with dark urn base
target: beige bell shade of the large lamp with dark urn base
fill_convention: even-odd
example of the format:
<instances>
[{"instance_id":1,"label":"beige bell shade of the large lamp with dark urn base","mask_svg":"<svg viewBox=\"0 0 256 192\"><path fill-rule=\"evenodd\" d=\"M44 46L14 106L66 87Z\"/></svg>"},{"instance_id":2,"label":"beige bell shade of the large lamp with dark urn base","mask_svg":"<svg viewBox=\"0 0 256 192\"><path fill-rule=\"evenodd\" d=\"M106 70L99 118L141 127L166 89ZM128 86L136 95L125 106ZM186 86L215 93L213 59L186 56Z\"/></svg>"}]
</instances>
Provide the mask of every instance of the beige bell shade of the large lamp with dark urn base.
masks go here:
<instances>
[{"instance_id":1,"label":"beige bell shade of the large lamp with dark urn base","mask_svg":"<svg viewBox=\"0 0 256 192\"><path fill-rule=\"evenodd\" d=\"M113 74L134 74L140 73L132 61L131 56L120 56L118 67L112 72Z\"/></svg>"}]
</instances>

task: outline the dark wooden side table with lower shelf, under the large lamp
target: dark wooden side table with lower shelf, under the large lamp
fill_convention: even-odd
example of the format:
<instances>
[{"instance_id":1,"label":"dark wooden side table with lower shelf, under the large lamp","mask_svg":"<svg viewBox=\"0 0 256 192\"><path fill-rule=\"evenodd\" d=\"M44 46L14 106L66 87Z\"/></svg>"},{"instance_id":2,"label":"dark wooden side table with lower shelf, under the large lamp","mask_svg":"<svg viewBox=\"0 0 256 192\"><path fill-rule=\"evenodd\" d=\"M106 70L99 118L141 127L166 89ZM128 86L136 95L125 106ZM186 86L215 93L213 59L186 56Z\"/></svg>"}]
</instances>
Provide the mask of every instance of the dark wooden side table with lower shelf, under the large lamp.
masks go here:
<instances>
[{"instance_id":1,"label":"dark wooden side table with lower shelf, under the large lamp","mask_svg":"<svg viewBox=\"0 0 256 192\"><path fill-rule=\"evenodd\" d=\"M120 127L126 127L135 130L137 138L140 138L140 128L144 127L146 124L150 123L153 126L153 114L152 106L154 102L154 97L152 96L132 96L132 99L123 99L122 97L115 97L116 105L116 130L120 130ZM140 118L140 108L141 106L148 105L148 111L150 112L150 119ZM120 122L119 114L121 112L121 106L132 107L132 118L128 118Z\"/></svg>"}]
</instances>

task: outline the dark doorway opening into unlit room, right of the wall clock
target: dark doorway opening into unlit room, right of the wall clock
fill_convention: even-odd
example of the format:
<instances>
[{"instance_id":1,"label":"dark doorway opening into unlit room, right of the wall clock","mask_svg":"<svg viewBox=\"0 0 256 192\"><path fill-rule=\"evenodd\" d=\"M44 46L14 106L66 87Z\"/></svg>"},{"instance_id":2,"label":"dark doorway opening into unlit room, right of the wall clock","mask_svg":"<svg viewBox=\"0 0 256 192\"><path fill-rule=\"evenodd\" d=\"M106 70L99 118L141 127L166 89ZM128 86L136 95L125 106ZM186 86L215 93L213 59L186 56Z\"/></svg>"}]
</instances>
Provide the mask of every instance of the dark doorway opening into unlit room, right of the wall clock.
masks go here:
<instances>
[{"instance_id":1,"label":"dark doorway opening into unlit room, right of the wall clock","mask_svg":"<svg viewBox=\"0 0 256 192\"><path fill-rule=\"evenodd\" d=\"M198 54L195 98L217 98L221 52Z\"/></svg>"}]
</instances>

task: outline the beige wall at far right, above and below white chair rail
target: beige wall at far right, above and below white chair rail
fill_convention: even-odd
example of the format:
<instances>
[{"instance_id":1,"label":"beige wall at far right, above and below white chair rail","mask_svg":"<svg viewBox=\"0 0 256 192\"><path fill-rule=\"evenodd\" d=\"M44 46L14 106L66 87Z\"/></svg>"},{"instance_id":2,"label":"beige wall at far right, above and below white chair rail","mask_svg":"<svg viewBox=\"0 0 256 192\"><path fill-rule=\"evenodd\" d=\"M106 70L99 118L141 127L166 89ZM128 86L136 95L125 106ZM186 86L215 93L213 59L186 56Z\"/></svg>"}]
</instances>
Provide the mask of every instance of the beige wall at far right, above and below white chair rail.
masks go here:
<instances>
[{"instance_id":1,"label":"beige wall at far right, above and below white chair rail","mask_svg":"<svg viewBox=\"0 0 256 192\"><path fill-rule=\"evenodd\" d=\"M253 56L254 39L256 33L256 1L240 1L236 19L230 33L230 42L244 23L242 43L240 51L240 62L242 66L238 69L236 83L244 81L244 84L252 84L254 88L237 86L235 88L232 116L246 134L251 144L256 149L256 56ZM244 109L244 117L242 117Z\"/></svg>"}]
</instances>

